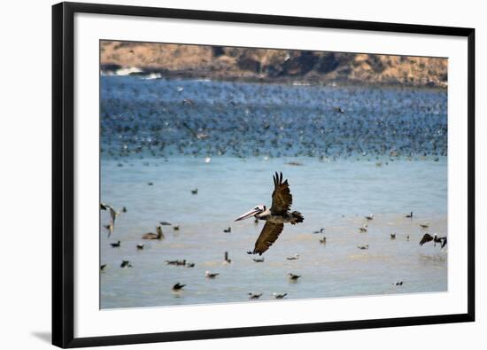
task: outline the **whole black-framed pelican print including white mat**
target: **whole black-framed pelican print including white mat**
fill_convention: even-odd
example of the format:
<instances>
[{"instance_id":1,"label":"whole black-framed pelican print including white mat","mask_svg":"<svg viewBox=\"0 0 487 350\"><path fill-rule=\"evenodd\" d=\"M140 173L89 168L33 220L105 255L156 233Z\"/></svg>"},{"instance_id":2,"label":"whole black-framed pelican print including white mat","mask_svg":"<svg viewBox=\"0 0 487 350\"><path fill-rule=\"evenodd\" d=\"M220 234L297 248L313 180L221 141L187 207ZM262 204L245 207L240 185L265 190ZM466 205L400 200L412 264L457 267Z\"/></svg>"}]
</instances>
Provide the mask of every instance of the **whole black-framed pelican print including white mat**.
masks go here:
<instances>
[{"instance_id":1,"label":"whole black-framed pelican print including white mat","mask_svg":"<svg viewBox=\"0 0 487 350\"><path fill-rule=\"evenodd\" d=\"M52 8L52 339L475 320L475 31Z\"/></svg>"}]
</instances>

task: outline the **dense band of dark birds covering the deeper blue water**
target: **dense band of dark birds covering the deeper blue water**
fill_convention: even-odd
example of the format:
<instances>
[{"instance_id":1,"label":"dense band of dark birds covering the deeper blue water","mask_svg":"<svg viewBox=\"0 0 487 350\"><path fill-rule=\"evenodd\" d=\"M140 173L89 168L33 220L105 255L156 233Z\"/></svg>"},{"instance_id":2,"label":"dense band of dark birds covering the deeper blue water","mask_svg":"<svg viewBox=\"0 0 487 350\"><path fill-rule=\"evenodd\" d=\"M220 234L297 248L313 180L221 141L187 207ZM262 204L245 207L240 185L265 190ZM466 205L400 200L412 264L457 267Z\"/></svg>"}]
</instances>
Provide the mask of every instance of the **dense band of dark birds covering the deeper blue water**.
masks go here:
<instances>
[{"instance_id":1,"label":"dense band of dark birds covering the deeper blue water","mask_svg":"<svg viewBox=\"0 0 487 350\"><path fill-rule=\"evenodd\" d=\"M125 159L172 155L310 156L382 166L447 154L444 91L109 76L101 83L101 153L121 167Z\"/></svg>"}]
</instances>

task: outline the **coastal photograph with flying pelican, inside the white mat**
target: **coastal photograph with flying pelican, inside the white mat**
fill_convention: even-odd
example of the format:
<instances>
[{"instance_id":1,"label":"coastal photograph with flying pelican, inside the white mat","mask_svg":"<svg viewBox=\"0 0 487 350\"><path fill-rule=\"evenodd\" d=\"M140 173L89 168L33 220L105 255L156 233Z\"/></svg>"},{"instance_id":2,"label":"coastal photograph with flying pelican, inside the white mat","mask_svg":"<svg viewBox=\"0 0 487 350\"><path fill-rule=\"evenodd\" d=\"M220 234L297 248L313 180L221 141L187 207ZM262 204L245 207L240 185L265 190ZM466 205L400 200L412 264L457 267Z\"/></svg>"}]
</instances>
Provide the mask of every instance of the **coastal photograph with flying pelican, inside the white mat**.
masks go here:
<instances>
[{"instance_id":1,"label":"coastal photograph with flying pelican, inside the white mat","mask_svg":"<svg viewBox=\"0 0 487 350\"><path fill-rule=\"evenodd\" d=\"M111 38L99 91L100 309L448 292L448 58Z\"/></svg>"}]
</instances>

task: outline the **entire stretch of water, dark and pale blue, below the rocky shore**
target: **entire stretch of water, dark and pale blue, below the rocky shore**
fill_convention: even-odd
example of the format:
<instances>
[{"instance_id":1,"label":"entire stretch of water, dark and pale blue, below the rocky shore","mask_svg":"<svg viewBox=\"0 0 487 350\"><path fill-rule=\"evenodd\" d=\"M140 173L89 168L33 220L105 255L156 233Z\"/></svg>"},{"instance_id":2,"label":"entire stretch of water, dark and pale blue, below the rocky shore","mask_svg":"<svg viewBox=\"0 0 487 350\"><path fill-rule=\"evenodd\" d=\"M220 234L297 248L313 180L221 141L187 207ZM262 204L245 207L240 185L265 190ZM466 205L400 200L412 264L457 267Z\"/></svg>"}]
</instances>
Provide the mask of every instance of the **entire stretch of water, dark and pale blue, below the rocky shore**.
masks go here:
<instances>
[{"instance_id":1,"label":"entire stretch of water, dark and pale blue, below the rocky shore","mask_svg":"<svg viewBox=\"0 0 487 350\"><path fill-rule=\"evenodd\" d=\"M248 292L263 292L260 299L272 299L273 292L308 299L447 290L447 249L418 245L426 231L446 234L447 158L441 155L446 141L445 134L437 133L446 130L444 92L134 77L104 77L102 89L101 201L128 209L117 217L112 237L103 227L109 217L101 212L100 264L107 265L100 274L102 308L242 302ZM345 98L352 93L352 100ZM321 96L328 101L324 106L315 102ZM234 104L222 109L230 97ZM190 110L182 98L194 101ZM344 105L344 115L333 111L337 103ZM150 112L154 104L158 113ZM170 113L160 112L168 105ZM271 115L262 105L283 112ZM378 119L352 112L378 106ZM209 114L215 108L220 112ZM270 127L253 128L249 122L231 128L247 109L253 120L267 120ZM324 120L287 120L293 111L309 115L323 110L329 115ZM351 118L348 128L338 128L337 118L345 116ZM389 121L379 128L381 118ZM404 124L394 122L401 120ZM191 128L210 136L197 139L181 121L193 122ZM321 137L317 123L334 131ZM283 124L282 132L272 132ZM374 137L381 130L384 148L379 149ZM428 142L430 134L436 135L436 149ZM262 143L265 136L289 139L291 146ZM391 156L393 150L400 154ZM289 179L292 209L304 214L305 222L286 225L263 255L265 261L254 262L255 256L246 252L262 223L233 220L253 206L271 204L274 171ZM197 195L191 194L196 188ZM407 219L411 211L414 218ZM364 216L372 213L368 232L360 233ZM163 226L165 239L145 241L137 251L143 233L154 232L160 221L181 229ZM420 228L423 222L429 222L428 229ZM231 232L223 232L228 227ZM313 233L321 228L324 233ZM390 239L393 232L395 240ZM327 237L326 245L321 237ZM118 240L119 248L109 245ZM369 249L359 250L359 245ZM225 251L230 264L223 263ZM298 260L286 260L294 254ZM195 267L165 263L183 259ZM120 268L122 260L133 267ZM220 276L205 278L206 270ZM290 283L290 272L302 275L297 283ZM393 285L399 280L404 284ZM187 284L182 292L172 292L177 282Z\"/></svg>"}]
</instances>

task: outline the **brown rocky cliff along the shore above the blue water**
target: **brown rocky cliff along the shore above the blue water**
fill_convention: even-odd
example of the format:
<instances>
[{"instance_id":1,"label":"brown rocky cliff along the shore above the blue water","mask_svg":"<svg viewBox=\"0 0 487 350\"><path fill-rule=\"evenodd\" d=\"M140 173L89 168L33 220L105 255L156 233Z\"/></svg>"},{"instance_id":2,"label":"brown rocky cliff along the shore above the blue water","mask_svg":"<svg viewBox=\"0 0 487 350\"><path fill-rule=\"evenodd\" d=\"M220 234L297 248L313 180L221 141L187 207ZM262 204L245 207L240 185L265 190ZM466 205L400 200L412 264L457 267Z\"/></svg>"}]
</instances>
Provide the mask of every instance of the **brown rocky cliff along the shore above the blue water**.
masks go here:
<instances>
[{"instance_id":1,"label":"brown rocky cliff along the shore above the blue water","mask_svg":"<svg viewBox=\"0 0 487 350\"><path fill-rule=\"evenodd\" d=\"M263 82L370 83L446 87L446 58L292 51L166 43L100 43L101 69Z\"/></svg>"}]
</instances>

